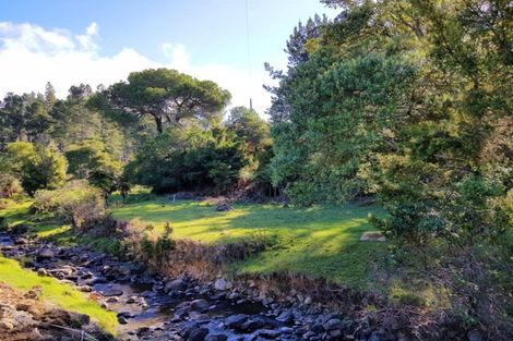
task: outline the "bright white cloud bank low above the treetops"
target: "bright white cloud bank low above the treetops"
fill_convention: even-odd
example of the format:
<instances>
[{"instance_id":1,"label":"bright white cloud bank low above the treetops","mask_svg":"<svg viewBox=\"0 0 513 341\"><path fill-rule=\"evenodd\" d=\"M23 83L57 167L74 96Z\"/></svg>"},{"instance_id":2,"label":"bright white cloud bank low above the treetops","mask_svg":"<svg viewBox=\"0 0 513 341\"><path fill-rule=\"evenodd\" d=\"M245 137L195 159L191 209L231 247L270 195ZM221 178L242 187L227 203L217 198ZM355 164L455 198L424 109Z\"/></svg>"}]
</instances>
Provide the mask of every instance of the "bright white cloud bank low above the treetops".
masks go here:
<instances>
[{"instance_id":1,"label":"bright white cloud bank low above the treetops","mask_svg":"<svg viewBox=\"0 0 513 341\"><path fill-rule=\"evenodd\" d=\"M168 62L159 63L134 49L124 48L115 56L100 56L96 39L99 27L92 23L83 34L65 29L46 29L33 24L0 22L0 96L8 92L43 92L51 82L59 97L71 85L87 83L93 88L126 80L130 72L150 68L171 68L201 80L212 80L232 95L232 106L248 106L263 113L270 96L262 88L269 83L264 71L249 75L246 70L226 64L193 64L183 45L164 44Z\"/></svg>"}]
</instances>

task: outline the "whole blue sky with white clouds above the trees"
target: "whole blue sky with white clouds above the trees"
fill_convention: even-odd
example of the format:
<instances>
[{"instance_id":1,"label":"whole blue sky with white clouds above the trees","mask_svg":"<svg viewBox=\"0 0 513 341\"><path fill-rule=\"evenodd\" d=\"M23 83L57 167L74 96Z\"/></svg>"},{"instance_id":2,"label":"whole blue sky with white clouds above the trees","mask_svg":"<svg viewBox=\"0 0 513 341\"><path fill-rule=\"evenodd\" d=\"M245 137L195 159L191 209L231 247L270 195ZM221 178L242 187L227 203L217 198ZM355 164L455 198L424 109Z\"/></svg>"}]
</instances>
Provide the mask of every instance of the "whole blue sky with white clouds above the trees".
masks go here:
<instances>
[{"instance_id":1,"label":"whole blue sky with white clouds above the trees","mask_svg":"<svg viewBox=\"0 0 513 341\"><path fill-rule=\"evenodd\" d=\"M218 83L231 106L252 98L263 114L262 85L272 84L263 64L284 69L288 36L315 13L336 14L319 0L0 1L0 97L47 82L64 97L71 85L170 68Z\"/></svg>"}]
</instances>

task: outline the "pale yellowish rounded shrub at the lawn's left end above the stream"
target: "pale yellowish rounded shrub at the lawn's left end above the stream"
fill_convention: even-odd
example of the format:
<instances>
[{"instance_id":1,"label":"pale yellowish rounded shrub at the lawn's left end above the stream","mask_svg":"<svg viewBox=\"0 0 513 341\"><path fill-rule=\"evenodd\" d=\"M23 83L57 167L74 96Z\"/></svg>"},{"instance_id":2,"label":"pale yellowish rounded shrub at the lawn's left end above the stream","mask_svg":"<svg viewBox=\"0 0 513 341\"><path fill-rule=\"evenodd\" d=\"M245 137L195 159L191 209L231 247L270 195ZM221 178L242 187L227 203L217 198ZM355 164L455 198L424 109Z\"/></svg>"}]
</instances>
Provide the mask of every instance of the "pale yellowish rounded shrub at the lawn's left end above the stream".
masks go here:
<instances>
[{"instance_id":1,"label":"pale yellowish rounded shrub at the lawn's left end above the stream","mask_svg":"<svg viewBox=\"0 0 513 341\"><path fill-rule=\"evenodd\" d=\"M62 217L76 229L105 216L102 192L83 181L69 183L61 190L37 191L34 198L38 211Z\"/></svg>"}]
</instances>

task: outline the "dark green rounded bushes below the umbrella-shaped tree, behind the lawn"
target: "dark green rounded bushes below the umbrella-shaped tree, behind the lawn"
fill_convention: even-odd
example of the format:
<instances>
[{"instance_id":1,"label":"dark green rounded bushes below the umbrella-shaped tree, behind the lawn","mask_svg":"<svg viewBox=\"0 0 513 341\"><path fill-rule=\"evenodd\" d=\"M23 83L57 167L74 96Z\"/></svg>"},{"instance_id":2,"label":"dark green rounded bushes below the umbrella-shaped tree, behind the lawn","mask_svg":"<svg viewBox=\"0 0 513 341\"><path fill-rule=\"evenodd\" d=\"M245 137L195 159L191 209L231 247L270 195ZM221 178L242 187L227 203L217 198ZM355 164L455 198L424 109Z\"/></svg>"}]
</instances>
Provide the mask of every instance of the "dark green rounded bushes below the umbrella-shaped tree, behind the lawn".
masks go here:
<instances>
[{"instance_id":1,"label":"dark green rounded bushes below the umbrella-shaped tree, behind the lawn","mask_svg":"<svg viewBox=\"0 0 513 341\"><path fill-rule=\"evenodd\" d=\"M223 127L169 129L148 138L126 168L124 178L156 193L228 191L246 165L234 134Z\"/></svg>"}]
</instances>

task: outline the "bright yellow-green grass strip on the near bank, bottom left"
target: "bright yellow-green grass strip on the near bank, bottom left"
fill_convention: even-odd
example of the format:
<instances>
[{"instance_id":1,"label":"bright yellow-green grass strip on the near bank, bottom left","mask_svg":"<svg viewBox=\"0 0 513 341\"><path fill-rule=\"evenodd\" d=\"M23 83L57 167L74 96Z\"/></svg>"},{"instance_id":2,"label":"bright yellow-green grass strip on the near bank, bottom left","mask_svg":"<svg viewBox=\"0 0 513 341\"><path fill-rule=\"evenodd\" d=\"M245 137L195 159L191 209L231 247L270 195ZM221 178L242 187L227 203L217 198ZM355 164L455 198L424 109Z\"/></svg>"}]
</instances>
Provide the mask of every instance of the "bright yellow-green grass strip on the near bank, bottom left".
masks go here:
<instances>
[{"instance_id":1,"label":"bright yellow-green grass strip on the near bank, bottom left","mask_svg":"<svg viewBox=\"0 0 513 341\"><path fill-rule=\"evenodd\" d=\"M23 269L17 261L1 256L0 281L24 291L38 285L43 289L43 300L67 310L90 315L107 331L114 332L118 324L115 313L103 309L73 287L50 277L39 277L34 271Z\"/></svg>"}]
</instances>

